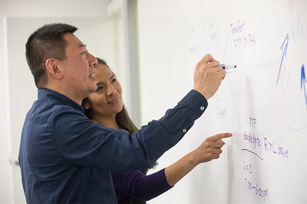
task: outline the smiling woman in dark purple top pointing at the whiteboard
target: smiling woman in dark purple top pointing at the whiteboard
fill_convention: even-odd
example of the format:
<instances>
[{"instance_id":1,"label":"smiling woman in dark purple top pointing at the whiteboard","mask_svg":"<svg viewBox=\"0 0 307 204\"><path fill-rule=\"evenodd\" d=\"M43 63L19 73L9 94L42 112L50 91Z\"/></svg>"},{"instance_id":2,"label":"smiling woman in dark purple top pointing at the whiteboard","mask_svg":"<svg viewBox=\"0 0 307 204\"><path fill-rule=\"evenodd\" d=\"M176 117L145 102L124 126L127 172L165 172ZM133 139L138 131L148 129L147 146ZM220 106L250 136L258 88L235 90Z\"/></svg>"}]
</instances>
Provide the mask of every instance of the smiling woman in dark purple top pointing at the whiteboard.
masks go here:
<instances>
[{"instance_id":1,"label":"smiling woman in dark purple top pointing at the whiteboard","mask_svg":"<svg viewBox=\"0 0 307 204\"><path fill-rule=\"evenodd\" d=\"M137 132L137 127L123 105L120 83L105 61L99 58L97 60L98 64L95 66L97 90L82 101L85 115L93 122L99 122L113 129ZM113 172L112 179L118 203L145 203L144 200L154 198L172 188L198 164L219 158L222 153L221 147L225 144L220 135L225 134L207 138L201 146L156 173L145 175L147 170Z\"/></svg>"}]
</instances>

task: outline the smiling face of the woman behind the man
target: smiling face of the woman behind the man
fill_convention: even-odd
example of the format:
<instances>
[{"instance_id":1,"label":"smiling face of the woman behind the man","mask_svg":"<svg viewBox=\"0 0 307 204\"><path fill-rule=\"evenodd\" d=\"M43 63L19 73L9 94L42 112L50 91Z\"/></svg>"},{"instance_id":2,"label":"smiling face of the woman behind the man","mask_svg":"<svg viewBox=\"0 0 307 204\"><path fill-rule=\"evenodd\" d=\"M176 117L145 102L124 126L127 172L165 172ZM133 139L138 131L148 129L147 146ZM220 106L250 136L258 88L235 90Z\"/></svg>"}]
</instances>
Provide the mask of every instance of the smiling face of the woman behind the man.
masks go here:
<instances>
[{"instance_id":1,"label":"smiling face of the woman behind the man","mask_svg":"<svg viewBox=\"0 0 307 204\"><path fill-rule=\"evenodd\" d=\"M93 118L115 116L123 108L122 87L106 65L98 64L95 69L97 90L87 97L86 106Z\"/></svg>"}]
</instances>

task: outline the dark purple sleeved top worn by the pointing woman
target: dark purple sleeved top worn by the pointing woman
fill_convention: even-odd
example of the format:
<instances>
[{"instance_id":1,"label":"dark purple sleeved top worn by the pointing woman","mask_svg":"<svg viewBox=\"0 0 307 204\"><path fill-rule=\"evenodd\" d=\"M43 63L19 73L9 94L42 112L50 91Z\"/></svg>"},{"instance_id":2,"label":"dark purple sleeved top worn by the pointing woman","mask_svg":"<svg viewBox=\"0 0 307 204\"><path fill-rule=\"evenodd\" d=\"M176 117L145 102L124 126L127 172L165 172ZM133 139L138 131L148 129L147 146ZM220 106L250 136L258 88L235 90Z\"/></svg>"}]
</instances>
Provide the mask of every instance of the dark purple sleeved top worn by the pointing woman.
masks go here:
<instances>
[{"instance_id":1,"label":"dark purple sleeved top worn by the pointing woman","mask_svg":"<svg viewBox=\"0 0 307 204\"><path fill-rule=\"evenodd\" d=\"M164 169L150 175L140 170L111 174L118 203L131 203L134 197L150 200L172 188L166 181Z\"/></svg>"}]
</instances>

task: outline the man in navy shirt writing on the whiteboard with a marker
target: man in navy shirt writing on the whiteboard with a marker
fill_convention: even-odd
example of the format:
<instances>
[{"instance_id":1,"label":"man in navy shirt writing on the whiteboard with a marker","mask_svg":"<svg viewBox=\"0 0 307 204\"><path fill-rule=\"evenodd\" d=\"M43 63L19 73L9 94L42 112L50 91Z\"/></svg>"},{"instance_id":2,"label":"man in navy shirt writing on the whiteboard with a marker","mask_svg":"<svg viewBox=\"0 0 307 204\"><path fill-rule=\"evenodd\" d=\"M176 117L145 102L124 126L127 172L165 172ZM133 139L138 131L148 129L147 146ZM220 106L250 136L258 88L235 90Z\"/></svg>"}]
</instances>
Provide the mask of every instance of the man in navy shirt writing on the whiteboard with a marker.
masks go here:
<instances>
[{"instance_id":1,"label":"man in navy shirt writing on the whiteboard with a marker","mask_svg":"<svg viewBox=\"0 0 307 204\"><path fill-rule=\"evenodd\" d=\"M206 55L194 86L164 117L136 134L94 123L81 101L96 90L97 59L72 25L47 24L26 43L26 58L38 88L21 133L19 163L28 203L116 203L110 171L150 168L190 129L225 77ZM221 135L219 140L229 137Z\"/></svg>"}]
</instances>

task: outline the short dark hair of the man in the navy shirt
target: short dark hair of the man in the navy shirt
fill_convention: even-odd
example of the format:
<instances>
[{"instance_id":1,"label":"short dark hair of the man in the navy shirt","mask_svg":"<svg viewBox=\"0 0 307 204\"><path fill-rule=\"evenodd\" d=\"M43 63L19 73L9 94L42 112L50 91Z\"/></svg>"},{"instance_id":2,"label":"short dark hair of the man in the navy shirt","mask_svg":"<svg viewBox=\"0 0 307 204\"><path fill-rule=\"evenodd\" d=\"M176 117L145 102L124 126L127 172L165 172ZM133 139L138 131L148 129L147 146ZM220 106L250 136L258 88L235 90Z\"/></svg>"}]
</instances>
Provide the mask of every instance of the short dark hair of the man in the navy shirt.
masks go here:
<instances>
[{"instance_id":1,"label":"short dark hair of the man in the navy shirt","mask_svg":"<svg viewBox=\"0 0 307 204\"><path fill-rule=\"evenodd\" d=\"M30 35L26 43L26 59L37 88L45 88L47 84L46 60L65 60L67 57L65 50L68 43L63 34L76 30L73 25L52 23L43 25Z\"/></svg>"}]
</instances>

